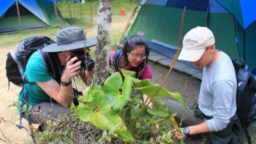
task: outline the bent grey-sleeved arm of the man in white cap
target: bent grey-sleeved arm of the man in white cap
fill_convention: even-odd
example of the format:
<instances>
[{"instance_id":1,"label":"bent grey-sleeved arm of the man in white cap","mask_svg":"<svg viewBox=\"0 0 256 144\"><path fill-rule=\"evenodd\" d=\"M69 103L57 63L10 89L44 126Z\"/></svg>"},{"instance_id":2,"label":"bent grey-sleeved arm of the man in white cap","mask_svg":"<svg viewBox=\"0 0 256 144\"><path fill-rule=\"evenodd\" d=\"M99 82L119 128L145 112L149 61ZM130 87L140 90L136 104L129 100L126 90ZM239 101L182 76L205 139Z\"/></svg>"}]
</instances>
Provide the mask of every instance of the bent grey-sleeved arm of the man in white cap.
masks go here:
<instances>
[{"instance_id":1,"label":"bent grey-sleeved arm of the man in white cap","mask_svg":"<svg viewBox=\"0 0 256 144\"><path fill-rule=\"evenodd\" d=\"M230 122L232 102L236 99L236 85L230 81L218 81L212 86L214 117L198 125L189 126L189 134L200 134L209 131L221 131ZM175 136L175 138L185 138L186 135Z\"/></svg>"}]
</instances>

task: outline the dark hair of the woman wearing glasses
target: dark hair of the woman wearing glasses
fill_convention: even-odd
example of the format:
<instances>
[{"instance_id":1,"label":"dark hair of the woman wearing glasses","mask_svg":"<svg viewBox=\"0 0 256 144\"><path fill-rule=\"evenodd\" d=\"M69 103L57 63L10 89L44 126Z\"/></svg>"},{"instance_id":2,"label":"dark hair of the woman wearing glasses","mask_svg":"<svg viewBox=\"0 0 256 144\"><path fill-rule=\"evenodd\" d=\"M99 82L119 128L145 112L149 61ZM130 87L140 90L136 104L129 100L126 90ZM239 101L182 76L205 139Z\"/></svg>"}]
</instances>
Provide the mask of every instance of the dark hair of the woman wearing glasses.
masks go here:
<instances>
[{"instance_id":1,"label":"dark hair of the woman wearing glasses","mask_svg":"<svg viewBox=\"0 0 256 144\"><path fill-rule=\"evenodd\" d=\"M146 51L146 58L141 62L141 64L145 65L145 62L148 62L148 55L149 55L149 50L148 50L148 44L147 42L142 38L140 35L133 35L128 38L128 40L124 44L123 52L122 52L122 59L120 61L120 65L126 66L128 65L129 61L127 58L127 52L131 52L134 47L138 45L143 45L145 47Z\"/></svg>"}]
</instances>

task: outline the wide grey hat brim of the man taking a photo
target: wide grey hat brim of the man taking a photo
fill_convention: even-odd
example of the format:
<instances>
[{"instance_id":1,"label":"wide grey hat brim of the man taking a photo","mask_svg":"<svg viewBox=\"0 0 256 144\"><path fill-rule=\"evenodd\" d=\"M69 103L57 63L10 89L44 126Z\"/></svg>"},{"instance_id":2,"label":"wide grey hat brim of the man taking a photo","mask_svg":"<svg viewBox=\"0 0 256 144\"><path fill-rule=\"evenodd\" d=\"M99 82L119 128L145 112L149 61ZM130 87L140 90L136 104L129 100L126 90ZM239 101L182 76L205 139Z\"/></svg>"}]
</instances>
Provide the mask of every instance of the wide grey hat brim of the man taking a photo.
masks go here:
<instances>
[{"instance_id":1,"label":"wide grey hat brim of the man taking a photo","mask_svg":"<svg viewBox=\"0 0 256 144\"><path fill-rule=\"evenodd\" d=\"M97 40L95 38L86 38L86 47L92 47L97 44ZM61 52L61 51L71 51L74 49L81 49L84 47L84 40L79 42L74 42L72 44L63 44L58 45L57 43L47 45L42 49L44 52Z\"/></svg>"}]
</instances>

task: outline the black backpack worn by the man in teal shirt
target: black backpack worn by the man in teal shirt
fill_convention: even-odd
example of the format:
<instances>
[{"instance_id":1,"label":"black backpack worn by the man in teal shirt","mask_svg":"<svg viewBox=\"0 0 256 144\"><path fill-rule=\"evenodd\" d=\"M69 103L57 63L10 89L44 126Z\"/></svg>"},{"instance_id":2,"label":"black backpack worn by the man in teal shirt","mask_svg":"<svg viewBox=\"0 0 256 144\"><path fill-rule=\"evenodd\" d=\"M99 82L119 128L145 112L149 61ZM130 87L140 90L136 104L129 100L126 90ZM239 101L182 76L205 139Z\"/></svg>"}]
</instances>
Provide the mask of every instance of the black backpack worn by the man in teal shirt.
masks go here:
<instances>
[{"instance_id":1,"label":"black backpack worn by the man in teal shirt","mask_svg":"<svg viewBox=\"0 0 256 144\"><path fill-rule=\"evenodd\" d=\"M54 41L47 36L31 36L20 42L16 51L8 52L6 60L6 76L9 81L17 85L22 86L26 80L24 79L23 72L25 70L26 64L29 60L29 57L33 52L38 51L45 47L46 45L52 44ZM40 51L42 60L44 61L49 72L51 72L51 63L48 61L47 53Z\"/></svg>"}]
</instances>

